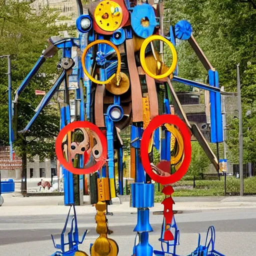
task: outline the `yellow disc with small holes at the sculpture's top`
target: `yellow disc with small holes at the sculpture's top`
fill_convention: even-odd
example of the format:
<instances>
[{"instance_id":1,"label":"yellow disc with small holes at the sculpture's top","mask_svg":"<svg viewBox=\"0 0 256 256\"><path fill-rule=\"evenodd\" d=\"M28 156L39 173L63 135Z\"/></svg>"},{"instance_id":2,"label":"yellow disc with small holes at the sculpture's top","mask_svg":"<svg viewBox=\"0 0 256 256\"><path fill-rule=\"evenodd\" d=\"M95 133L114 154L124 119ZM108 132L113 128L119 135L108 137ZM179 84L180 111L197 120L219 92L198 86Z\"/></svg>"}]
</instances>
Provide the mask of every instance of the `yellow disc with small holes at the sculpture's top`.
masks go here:
<instances>
[{"instance_id":1,"label":"yellow disc with small holes at the sculpture's top","mask_svg":"<svg viewBox=\"0 0 256 256\"><path fill-rule=\"evenodd\" d=\"M122 22L122 9L114 1L103 0L99 2L94 11L97 25L105 31L116 30Z\"/></svg>"}]
</instances>

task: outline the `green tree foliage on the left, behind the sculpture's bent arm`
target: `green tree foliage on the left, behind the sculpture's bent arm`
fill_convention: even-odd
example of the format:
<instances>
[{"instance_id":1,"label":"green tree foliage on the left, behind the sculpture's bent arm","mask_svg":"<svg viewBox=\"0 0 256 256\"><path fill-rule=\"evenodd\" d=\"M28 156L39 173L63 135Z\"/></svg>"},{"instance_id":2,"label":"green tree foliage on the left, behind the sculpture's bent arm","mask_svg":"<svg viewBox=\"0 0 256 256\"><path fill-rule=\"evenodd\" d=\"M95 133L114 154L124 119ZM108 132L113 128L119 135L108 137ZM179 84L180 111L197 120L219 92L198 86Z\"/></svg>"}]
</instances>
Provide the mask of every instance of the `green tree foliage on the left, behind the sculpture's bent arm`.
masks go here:
<instances>
[{"instance_id":1,"label":"green tree foliage on the left, behind the sculpture's bent arm","mask_svg":"<svg viewBox=\"0 0 256 256\"><path fill-rule=\"evenodd\" d=\"M0 0L0 55L11 55L12 96L46 48L46 40L65 29L65 26L55 25L57 15L57 12L47 7L41 7L35 12L28 1ZM0 144L7 145L7 60L2 58L0 61ZM47 59L21 93L18 99L18 130L25 127L42 98L35 96L35 89L48 91L52 86L57 73L56 61L57 56ZM39 154L41 157L52 157L54 136L59 129L58 112L58 105L52 100L26 134L25 148L21 147L22 137L18 137L16 151L21 154L25 150L30 156Z\"/></svg>"}]
</instances>

